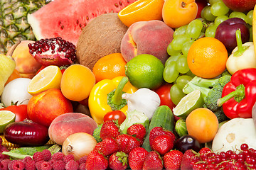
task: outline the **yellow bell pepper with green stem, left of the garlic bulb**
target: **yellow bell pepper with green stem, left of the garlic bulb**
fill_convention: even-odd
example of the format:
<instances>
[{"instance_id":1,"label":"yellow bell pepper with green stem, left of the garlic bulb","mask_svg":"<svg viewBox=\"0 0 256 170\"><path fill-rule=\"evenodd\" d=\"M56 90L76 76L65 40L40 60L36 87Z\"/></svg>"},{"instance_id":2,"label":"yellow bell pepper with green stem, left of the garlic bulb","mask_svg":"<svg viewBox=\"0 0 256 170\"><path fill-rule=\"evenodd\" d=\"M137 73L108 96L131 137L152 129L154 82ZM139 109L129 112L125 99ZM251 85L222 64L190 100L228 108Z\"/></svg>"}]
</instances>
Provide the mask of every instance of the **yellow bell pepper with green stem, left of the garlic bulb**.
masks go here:
<instances>
[{"instance_id":1,"label":"yellow bell pepper with green stem, left of the garlic bulb","mask_svg":"<svg viewBox=\"0 0 256 170\"><path fill-rule=\"evenodd\" d=\"M110 111L122 111L126 115L127 101L122 99L122 93L133 94L135 91L137 91L137 88L130 84L127 77L116 77L97 82L92 87L88 99L92 118L97 124L101 124L104 115Z\"/></svg>"}]
</instances>

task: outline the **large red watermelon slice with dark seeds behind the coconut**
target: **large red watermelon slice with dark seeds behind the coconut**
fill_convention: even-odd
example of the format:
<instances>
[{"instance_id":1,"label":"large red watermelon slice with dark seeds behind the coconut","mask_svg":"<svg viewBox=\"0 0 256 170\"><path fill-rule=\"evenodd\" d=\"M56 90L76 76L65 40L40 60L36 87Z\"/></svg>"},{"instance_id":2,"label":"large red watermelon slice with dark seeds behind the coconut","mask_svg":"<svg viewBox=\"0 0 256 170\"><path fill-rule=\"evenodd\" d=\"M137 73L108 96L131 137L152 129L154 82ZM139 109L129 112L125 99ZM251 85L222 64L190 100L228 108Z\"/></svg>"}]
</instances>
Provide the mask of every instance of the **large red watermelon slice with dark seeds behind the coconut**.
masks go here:
<instances>
[{"instance_id":1,"label":"large red watermelon slice with dark seeds behind the coconut","mask_svg":"<svg viewBox=\"0 0 256 170\"><path fill-rule=\"evenodd\" d=\"M82 28L103 13L119 12L136 0L54 0L28 14L37 40L61 37L77 44Z\"/></svg>"}]
</instances>

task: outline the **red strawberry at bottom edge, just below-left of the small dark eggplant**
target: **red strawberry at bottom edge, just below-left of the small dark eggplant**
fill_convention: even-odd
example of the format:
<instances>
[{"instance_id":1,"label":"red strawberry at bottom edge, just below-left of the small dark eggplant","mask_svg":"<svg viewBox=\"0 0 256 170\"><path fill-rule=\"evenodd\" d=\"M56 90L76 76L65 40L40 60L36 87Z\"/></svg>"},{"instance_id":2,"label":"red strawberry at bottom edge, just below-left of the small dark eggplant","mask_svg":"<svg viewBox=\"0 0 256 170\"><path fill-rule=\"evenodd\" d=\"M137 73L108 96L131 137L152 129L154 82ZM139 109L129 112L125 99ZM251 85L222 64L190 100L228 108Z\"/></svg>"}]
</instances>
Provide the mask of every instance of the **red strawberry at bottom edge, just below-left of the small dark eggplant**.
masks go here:
<instances>
[{"instance_id":1,"label":"red strawberry at bottom edge, just below-left of the small dark eggplant","mask_svg":"<svg viewBox=\"0 0 256 170\"><path fill-rule=\"evenodd\" d=\"M180 169L182 157L183 153L179 150L171 150L164 154L163 161L165 169Z\"/></svg>"}]
</instances>

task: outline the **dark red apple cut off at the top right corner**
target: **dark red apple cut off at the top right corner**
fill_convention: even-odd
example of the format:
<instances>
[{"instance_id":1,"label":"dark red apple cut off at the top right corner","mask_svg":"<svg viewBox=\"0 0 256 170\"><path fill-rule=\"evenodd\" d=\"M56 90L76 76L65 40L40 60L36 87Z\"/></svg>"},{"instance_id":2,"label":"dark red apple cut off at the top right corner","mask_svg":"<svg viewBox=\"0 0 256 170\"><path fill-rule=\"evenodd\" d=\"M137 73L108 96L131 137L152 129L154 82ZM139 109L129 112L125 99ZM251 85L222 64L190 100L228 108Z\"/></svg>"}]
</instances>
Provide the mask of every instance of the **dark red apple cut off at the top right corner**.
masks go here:
<instances>
[{"instance_id":1,"label":"dark red apple cut off at the top right corner","mask_svg":"<svg viewBox=\"0 0 256 170\"><path fill-rule=\"evenodd\" d=\"M233 11L246 12L255 7L256 0L223 0L224 4Z\"/></svg>"}]
</instances>

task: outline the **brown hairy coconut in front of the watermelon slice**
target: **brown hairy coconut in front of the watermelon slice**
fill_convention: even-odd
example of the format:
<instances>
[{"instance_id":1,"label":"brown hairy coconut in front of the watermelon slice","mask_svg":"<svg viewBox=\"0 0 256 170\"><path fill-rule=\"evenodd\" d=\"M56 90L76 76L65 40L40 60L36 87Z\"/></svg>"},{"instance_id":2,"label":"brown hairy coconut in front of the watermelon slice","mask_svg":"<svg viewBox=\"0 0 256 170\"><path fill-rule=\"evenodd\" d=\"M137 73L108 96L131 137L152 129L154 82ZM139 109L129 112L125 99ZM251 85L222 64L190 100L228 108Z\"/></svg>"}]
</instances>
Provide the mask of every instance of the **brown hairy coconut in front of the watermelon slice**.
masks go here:
<instances>
[{"instance_id":1,"label":"brown hairy coconut in front of the watermelon slice","mask_svg":"<svg viewBox=\"0 0 256 170\"><path fill-rule=\"evenodd\" d=\"M115 52L128 27L119 20L117 13L105 13L94 18L82 29L78 38L77 57L79 64L91 70L97 60Z\"/></svg>"}]
</instances>

